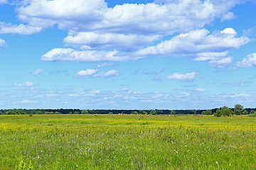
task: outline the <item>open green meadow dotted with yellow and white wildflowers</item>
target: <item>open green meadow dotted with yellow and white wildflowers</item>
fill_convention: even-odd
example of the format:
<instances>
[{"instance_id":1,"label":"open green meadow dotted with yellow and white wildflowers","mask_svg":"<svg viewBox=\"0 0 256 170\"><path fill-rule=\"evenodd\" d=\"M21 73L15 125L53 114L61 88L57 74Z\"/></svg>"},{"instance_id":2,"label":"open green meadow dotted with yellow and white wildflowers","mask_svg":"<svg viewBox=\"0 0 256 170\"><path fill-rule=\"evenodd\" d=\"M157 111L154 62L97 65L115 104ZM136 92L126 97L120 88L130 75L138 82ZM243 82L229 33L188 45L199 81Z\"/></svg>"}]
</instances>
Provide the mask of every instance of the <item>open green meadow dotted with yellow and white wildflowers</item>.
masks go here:
<instances>
[{"instance_id":1,"label":"open green meadow dotted with yellow and white wildflowers","mask_svg":"<svg viewBox=\"0 0 256 170\"><path fill-rule=\"evenodd\" d=\"M0 115L0 169L256 169L246 115Z\"/></svg>"}]
</instances>

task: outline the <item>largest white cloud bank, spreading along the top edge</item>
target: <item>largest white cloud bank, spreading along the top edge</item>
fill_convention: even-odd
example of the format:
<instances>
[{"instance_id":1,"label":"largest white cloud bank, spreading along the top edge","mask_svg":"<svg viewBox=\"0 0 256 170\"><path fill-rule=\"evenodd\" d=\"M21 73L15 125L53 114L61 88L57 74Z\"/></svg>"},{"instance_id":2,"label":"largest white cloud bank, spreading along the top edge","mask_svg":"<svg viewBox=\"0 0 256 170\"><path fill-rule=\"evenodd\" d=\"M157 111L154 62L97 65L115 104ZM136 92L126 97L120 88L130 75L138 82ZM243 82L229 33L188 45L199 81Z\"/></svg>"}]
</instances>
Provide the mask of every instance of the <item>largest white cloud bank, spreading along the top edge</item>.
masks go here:
<instances>
[{"instance_id":1,"label":"largest white cloud bank, spreading along the top edge","mask_svg":"<svg viewBox=\"0 0 256 170\"><path fill-rule=\"evenodd\" d=\"M31 0L19 6L18 18L47 28L58 23L70 33L104 32L167 35L202 28L215 18L229 16L237 1L169 1L166 4L123 4L107 8L104 0ZM75 9L75 10L74 10ZM228 17L226 17L228 18Z\"/></svg>"}]
</instances>

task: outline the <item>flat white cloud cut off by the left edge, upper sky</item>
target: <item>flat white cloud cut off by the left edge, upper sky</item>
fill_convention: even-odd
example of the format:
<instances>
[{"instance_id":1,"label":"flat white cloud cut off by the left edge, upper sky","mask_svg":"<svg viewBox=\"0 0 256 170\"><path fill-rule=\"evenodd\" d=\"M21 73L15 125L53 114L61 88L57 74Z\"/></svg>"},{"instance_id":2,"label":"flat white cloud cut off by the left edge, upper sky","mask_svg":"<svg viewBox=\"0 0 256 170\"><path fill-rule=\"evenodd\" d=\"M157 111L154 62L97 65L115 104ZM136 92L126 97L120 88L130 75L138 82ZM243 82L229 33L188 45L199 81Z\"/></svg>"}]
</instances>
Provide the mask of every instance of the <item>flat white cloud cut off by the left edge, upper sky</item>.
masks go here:
<instances>
[{"instance_id":1,"label":"flat white cloud cut off by the left edge, upper sky","mask_svg":"<svg viewBox=\"0 0 256 170\"><path fill-rule=\"evenodd\" d=\"M18 33L21 35L30 35L34 33L41 32L42 28L37 26L25 26L22 23L17 25L12 25L11 23L0 22L0 34L4 33Z\"/></svg>"}]
</instances>

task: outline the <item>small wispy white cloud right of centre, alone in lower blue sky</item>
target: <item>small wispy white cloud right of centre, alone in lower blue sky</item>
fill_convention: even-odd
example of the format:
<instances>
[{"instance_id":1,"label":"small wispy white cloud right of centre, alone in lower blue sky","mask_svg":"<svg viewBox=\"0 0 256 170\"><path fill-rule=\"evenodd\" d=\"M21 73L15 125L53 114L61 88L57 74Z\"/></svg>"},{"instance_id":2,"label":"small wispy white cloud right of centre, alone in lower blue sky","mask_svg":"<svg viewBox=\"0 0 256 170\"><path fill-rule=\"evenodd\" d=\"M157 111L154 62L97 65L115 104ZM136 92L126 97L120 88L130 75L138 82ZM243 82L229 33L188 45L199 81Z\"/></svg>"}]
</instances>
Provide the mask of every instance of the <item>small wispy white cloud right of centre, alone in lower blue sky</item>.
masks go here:
<instances>
[{"instance_id":1,"label":"small wispy white cloud right of centre, alone in lower blue sky","mask_svg":"<svg viewBox=\"0 0 256 170\"><path fill-rule=\"evenodd\" d=\"M191 73L186 73L186 74L179 74L179 73L174 73L169 75L168 77L161 77L161 78L156 78L154 77L154 81L163 81L166 79L171 79L171 80L181 80L181 81L186 81L186 80L193 80L196 78L196 74L199 74L198 72L191 72Z\"/></svg>"}]
</instances>

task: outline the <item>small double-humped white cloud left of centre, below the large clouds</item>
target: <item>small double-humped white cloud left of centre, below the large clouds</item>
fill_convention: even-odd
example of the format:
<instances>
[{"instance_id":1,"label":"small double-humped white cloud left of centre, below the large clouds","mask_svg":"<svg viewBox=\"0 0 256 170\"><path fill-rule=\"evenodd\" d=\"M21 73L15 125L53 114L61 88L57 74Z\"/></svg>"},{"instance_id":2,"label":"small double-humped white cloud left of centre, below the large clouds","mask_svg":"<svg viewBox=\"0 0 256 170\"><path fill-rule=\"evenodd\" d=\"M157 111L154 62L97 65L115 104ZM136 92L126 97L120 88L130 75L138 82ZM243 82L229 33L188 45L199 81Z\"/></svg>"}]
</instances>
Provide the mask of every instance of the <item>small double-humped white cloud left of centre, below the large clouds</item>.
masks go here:
<instances>
[{"instance_id":1,"label":"small double-humped white cloud left of centre, below the large clouds","mask_svg":"<svg viewBox=\"0 0 256 170\"><path fill-rule=\"evenodd\" d=\"M99 72L99 69L86 69L81 70L76 74L77 78L89 78L89 77L116 77L119 76L117 70L110 70L109 72Z\"/></svg>"}]
</instances>

